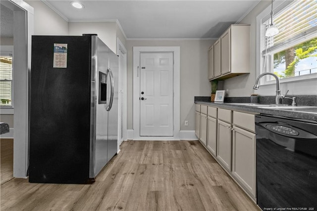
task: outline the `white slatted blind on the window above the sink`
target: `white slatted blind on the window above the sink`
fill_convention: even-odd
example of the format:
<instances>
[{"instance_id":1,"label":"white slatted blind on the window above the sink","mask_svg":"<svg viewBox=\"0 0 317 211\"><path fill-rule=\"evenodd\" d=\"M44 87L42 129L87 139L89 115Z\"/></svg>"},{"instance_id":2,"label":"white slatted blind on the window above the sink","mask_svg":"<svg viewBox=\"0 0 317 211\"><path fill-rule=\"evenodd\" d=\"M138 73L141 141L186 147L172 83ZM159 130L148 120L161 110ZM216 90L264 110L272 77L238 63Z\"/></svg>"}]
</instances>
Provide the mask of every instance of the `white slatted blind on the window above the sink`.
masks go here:
<instances>
[{"instance_id":1,"label":"white slatted blind on the window above the sink","mask_svg":"<svg viewBox=\"0 0 317 211\"><path fill-rule=\"evenodd\" d=\"M277 12L276 12L277 11ZM276 53L285 47L310 40L317 36L317 0L294 0L288 6L274 10L273 23L279 33L267 39L266 52ZM263 19L263 30L270 24L269 15ZM263 34L263 37L265 37ZM265 39L262 43L262 54L265 54Z\"/></svg>"}]
</instances>

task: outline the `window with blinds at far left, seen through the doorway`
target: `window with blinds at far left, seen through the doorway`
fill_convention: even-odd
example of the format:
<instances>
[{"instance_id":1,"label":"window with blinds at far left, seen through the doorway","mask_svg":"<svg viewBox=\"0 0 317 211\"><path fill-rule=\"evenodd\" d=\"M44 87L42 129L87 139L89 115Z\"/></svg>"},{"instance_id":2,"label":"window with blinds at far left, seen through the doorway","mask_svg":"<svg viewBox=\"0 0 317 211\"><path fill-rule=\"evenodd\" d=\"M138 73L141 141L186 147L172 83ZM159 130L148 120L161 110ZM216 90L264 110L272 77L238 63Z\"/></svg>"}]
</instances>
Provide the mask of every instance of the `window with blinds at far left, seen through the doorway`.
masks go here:
<instances>
[{"instance_id":1,"label":"window with blinds at far left, seen through the doorway","mask_svg":"<svg viewBox=\"0 0 317 211\"><path fill-rule=\"evenodd\" d=\"M0 53L0 106L13 106L12 53Z\"/></svg>"}]
</instances>

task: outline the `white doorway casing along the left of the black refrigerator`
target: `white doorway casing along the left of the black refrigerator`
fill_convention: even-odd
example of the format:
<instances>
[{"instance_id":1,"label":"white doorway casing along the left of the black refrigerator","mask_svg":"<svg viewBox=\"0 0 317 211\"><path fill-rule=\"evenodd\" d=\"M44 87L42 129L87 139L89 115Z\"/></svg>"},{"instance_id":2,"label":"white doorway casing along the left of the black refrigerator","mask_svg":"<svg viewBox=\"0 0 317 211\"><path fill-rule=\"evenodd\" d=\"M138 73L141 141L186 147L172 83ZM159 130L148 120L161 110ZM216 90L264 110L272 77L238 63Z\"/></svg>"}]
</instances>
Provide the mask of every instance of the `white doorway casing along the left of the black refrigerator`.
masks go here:
<instances>
[{"instance_id":1,"label":"white doorway casing along the left of the black refrigerator","mask_svg":"<svg viewBox=\"0 0 317 211\"><path fill-rule=\"evenodd\" d=\"M29 164L29 76L31 74L31 37L34 33L34 9L23 0L1 2L13 10L14 42L14 125L13 176L26 178Z\"/></svg>"}]
</instances>

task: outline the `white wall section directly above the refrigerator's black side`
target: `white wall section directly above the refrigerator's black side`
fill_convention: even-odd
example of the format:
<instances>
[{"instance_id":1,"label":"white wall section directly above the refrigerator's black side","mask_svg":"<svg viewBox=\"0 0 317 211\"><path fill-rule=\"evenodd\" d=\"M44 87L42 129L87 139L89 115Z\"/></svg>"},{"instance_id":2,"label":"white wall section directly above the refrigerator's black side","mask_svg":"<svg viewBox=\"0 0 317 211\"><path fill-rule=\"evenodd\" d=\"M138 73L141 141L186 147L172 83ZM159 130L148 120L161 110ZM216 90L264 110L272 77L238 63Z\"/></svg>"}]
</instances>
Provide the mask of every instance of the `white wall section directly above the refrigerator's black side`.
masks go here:
<instances>
[{"instance_id":1,"label":"white wall section directly above the refrigerator's black side","mask_svg":"<svg viewBox=\"0 0 317 211\"><path fill-rule=\"evenodd\" d=\"M40 0L26 0L34 8L33 35L67 35L68 25L62 17Z\"/></svg>"}]
</instances>

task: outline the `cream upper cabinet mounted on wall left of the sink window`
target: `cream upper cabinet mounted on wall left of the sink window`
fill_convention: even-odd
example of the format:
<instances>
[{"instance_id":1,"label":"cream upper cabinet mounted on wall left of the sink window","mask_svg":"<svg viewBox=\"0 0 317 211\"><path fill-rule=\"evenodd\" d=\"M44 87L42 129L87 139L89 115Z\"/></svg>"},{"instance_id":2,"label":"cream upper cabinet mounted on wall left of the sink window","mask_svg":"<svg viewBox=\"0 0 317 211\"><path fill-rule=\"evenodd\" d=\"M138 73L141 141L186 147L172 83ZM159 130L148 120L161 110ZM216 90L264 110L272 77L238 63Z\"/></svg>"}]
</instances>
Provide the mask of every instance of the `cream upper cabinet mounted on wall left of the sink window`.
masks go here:
<instances>
[{"instance_id":1,"label":"cream upper cabinet mounted on wall left of the sink window","mask_svg":"<svg viewBox=\"0 0 317 211\"><path fill-rule=\"evenodd\" d=\"M213 44L214 78L250 73L250 25L231 25Z\"/></svg>"}]
</instances>

